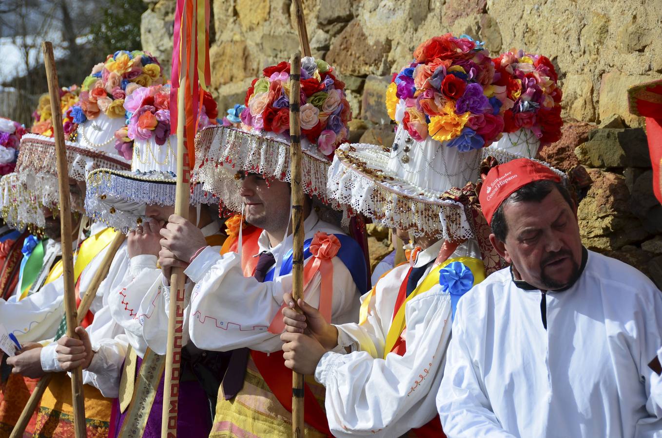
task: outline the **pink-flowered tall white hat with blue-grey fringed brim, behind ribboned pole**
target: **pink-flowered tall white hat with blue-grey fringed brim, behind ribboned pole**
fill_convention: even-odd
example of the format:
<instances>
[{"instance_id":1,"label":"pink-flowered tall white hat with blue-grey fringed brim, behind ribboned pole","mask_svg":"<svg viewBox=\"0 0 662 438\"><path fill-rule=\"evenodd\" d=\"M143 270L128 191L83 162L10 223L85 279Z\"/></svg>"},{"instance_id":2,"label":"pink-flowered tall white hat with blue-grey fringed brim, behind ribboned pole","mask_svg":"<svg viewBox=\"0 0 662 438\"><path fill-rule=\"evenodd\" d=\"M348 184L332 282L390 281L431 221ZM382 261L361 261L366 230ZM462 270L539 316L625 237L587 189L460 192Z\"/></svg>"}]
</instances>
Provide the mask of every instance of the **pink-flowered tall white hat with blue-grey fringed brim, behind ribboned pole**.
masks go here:
<instances>
[{"instance_id":1,"label":"pink-flowered tall white hat with blue-grey fringed brim, behind ribboned pole","mask_svg":"<svg viewBox=\"0 0 662 438\"><path fill-rule=\"evenodd\" d=\"M216 123L216 102L201 95L198 127ZM145 219L145 205L174 205L177 139L170 131L170 85L135 89L124 101L128 125L115 131L115 148L131 160L131 170L99 168L87 177L87 215L126 233ZM218 203L198 186L191 205Z\"/></svg>"}]
</instances>

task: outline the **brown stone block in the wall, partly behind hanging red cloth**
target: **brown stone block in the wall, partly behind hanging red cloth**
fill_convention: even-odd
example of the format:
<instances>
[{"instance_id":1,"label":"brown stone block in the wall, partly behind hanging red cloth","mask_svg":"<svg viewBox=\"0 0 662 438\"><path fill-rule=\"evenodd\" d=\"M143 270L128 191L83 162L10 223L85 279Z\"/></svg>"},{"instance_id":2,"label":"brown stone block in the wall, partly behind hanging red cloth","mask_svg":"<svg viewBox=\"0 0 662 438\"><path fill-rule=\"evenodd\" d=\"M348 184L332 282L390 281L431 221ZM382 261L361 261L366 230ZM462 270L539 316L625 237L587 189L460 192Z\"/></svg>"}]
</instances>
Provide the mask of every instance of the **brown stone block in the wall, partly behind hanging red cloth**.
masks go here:
<instances>
[{"instance_id":1,"label":"brown stone block in the wall, partly behind hanging red cloth","mask_svg":"<svg viewBox=\"0 0 662 438\"><path fill-rule=\"evenodd\" d=\"M595 129L589 141L575 149L579 163L590 167L649 167L648 143L643 129Z\"/></svg>"}]
</instances>

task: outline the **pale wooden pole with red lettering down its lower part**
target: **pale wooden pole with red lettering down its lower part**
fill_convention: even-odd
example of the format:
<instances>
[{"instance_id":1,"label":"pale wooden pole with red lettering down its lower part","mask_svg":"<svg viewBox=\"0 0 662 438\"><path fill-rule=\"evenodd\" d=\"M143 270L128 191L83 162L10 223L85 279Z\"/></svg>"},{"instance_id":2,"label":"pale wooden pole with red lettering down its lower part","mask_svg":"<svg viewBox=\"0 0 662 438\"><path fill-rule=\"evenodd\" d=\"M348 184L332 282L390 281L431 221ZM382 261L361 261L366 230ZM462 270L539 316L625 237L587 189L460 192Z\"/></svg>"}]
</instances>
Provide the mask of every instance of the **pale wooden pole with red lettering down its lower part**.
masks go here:
<instances>
[{"instance_id":1,"label":"pale wooden pole with red lettering down its lower part","mask_svg":"<svg viewBox=\"0 0 662 438\"><path fill-rule=\"evenodd\" d=\"M193 8L195 23L197 8ZM182 30L182 35L186 32ZM191 44L187 63L181 63L179 69L179 89L177 90L177 190L175 192L175 215L189 218L190 169L185 137L185 91L188 86L186 78L193 71L195 49ZM194 87L198 85L195 84ZM193 139L187 139L193 141ZM183 268L172 268L170 274L170 307L168 310L166 371L164 373L164 404L161 421L161 436L174 438L177 436L177 405L179 401L179 376L181 366L181 342L184 325L184 285L186 276Z\"/></svg>"}]
</instances>

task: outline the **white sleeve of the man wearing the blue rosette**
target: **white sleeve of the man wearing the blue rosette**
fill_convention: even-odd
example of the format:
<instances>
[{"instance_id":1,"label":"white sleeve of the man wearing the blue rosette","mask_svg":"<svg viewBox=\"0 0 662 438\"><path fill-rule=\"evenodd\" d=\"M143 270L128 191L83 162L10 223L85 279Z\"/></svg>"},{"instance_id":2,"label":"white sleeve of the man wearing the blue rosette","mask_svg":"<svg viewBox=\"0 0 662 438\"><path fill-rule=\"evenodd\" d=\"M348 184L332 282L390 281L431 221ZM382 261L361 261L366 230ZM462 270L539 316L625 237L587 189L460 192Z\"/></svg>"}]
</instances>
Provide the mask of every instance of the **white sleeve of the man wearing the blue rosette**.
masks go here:
<instances>
[{"instance_id":1,"label":"white sleeve of the man wearing the blue rosette","mask_svg":"<svg viewBox=\"0 0 662 438\"><path fill-rule=\"evenodd\" d=\"M436 416L434 406L451 334L451 303L440 287L406 305L406 353L326 353L315 379L326 386L326 416L337 437L397 437Z\"/></svg>"}]
</instances>

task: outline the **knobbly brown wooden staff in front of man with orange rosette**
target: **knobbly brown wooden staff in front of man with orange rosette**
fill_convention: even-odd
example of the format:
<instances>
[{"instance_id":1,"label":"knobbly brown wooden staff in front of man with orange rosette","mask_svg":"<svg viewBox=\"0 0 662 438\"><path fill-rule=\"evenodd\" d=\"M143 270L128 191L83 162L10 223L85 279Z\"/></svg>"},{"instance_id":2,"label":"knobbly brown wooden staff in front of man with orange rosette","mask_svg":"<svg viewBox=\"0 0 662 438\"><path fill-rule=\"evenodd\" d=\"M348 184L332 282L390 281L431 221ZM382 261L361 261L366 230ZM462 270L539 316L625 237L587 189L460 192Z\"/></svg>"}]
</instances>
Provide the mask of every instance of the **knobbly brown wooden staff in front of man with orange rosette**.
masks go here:
<instances>
[{"instance_id":1,"label":"knobbly brown wooden staff in front of man with orange rosette","mask_svg":"<svg viewBox=\"0 0 662 438\"><path fill-rule=\"evenodd\" d=\"M292 186L292 297L303 299L303 186L301 186L301 54L290 61L290 180ZM304 436L303 374L292 373L292 436Z\"/></svg>"}]
</instances>

